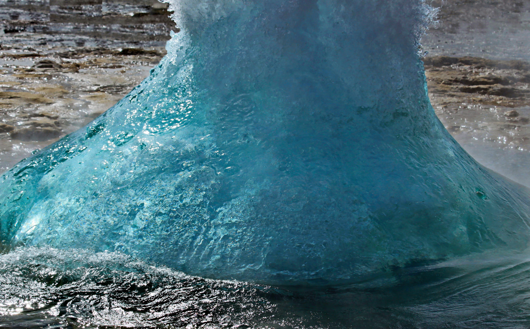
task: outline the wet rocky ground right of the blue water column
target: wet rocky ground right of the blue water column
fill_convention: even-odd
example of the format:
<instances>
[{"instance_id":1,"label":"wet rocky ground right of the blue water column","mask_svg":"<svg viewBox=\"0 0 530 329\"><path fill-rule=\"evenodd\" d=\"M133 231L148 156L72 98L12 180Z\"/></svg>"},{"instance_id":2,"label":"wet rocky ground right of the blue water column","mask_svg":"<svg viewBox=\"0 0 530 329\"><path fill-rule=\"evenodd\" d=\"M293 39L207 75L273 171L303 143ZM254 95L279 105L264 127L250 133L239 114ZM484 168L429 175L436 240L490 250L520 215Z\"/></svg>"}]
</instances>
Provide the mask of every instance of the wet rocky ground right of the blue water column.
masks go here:
<instances>
[{"instance_id":1,"label":"wet rocky ground right of the blue water column","mask_svg":"<svg viewBox=\"0 0 530 329\"><path fill-rule=\"evenodd\" d=\"M530 1L432 5L439 22L421 42L438 118L480 163L530 186Z\"/></svg>"}]
</instances>

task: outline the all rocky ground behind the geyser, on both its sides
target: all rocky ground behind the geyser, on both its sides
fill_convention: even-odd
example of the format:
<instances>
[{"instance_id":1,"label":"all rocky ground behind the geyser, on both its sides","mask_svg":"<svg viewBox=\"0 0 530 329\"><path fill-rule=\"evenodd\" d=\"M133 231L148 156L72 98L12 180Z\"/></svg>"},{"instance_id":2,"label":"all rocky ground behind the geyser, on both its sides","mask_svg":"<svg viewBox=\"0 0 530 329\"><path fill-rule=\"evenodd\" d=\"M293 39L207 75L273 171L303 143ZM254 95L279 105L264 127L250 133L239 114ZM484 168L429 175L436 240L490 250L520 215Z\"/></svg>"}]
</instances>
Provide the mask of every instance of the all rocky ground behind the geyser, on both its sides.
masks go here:
<instances>
[{"instance_id":1,"label":"all rocky ground behind the geyser, on both its sides","mask_svg":"<svg viewBox=\"0 0 530 329\"><path fill-rule=\"evenodd\" d=\"M0 0L0 171L140 83L178 32L169 14L156 0ZM530 2L444 0L422 43L444 126L481 163L530 185Z\"/></svg>"}]
</instances>

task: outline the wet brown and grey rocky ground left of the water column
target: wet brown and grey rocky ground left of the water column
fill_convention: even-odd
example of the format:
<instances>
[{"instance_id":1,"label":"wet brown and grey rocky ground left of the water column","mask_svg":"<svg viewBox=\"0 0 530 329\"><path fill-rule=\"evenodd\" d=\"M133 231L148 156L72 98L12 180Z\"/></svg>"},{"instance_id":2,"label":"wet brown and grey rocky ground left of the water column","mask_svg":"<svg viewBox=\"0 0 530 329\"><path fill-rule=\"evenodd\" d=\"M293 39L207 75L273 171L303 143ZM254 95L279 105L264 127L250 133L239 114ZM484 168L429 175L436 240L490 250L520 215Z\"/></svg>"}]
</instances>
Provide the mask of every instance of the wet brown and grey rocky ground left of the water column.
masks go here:
<instances>
[{"instance_id":1,"label":"wet brown and grey rocky ground left of the water column","mask_svg":"<svg viewBox=\"0 0 530 329\"><path fill-rule=\"evenodd\" d=\"M109 109L179 29L156 0L0 0L0 171Z\"/></svg>"}]
</instances>

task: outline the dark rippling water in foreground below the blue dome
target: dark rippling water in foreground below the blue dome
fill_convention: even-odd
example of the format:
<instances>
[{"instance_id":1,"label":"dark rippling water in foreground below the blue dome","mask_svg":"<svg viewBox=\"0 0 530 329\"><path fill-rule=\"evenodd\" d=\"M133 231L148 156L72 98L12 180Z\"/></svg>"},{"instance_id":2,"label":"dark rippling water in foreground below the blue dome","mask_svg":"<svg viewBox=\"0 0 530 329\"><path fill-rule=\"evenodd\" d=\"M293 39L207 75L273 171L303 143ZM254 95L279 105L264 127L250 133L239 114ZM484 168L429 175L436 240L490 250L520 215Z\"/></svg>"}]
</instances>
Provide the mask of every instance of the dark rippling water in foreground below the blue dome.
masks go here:
<instances>
[{"instance_id":1,"label":"dark rippling water in foreground below the blue dome","mask_svg":"<svg viewBox=\"0 0 530 329\"><path fill-rule=\"evenodd\" d=\"M120 253L27 247L0 258L0 327L527 328L529 272L527 256L497 254L355 284L271 287Z\"/></svg>"}]
</instances>

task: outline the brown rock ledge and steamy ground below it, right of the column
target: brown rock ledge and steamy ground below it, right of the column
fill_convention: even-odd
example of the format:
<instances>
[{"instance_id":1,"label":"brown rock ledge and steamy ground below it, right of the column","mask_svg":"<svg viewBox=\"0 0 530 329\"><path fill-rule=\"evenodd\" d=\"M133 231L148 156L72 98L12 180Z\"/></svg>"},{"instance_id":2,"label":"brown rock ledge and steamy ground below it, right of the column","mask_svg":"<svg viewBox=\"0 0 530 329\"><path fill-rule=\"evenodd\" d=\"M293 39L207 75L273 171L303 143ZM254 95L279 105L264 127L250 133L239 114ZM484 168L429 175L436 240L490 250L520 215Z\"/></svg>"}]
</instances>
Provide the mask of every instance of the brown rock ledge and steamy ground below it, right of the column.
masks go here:
<instances>
[{"instance_id":1,"label":"brown rock ledge and steamy ground below it, right of the column","mask_svg":"<svg viewBox=\"0 0 530 329\"><path fill-rule=\"evenodd\" d=\"M530 185L530 64L523 60L423 59L440 121L479 162Z\"/></svg>"}]
</instances>

